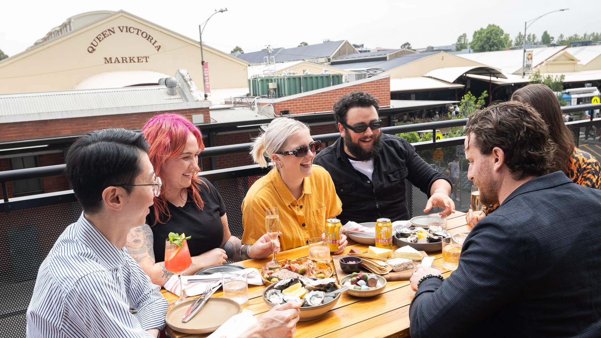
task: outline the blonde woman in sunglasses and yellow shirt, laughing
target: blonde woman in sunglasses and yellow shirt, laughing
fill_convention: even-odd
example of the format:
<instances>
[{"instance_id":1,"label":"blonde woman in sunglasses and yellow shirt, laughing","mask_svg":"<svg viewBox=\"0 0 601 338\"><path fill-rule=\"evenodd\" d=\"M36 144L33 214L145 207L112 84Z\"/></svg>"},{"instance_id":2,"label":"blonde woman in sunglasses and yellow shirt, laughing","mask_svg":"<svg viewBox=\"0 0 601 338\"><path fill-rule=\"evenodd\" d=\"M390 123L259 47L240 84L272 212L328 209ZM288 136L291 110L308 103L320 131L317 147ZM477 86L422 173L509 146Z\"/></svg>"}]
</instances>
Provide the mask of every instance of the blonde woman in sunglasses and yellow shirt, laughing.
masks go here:
<instances>
[{"instance_id":1,"label":"blonde woman in sunglasses and yellow shirt, laughing","mask_svg":"<svg viewBox=\"0 0 601 338\"><path fill-rule=\"evenodd\" d=\"M253 183L242 202L242 243L252 244L266 233L267 207L278 208L281 250L302 247L310 238L322 236L326 220L342 212L332 177L313 164L320 147L308 126L293 118L278 117L263 127L251 155L261 167L267 167L264 156L275 165ZM342 235L337 253L346 244Z\"/></svg>"}]
</instances>

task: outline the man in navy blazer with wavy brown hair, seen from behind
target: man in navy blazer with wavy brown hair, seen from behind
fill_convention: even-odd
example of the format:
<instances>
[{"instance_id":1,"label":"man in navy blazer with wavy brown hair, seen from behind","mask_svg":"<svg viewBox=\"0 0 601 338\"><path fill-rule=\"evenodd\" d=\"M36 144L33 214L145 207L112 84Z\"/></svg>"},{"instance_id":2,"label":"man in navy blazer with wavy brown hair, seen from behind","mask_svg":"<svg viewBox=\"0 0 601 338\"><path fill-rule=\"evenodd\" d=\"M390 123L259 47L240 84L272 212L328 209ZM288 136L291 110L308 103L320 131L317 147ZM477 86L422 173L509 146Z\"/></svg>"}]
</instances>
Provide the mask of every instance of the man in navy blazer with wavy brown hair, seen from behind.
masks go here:
<instances>
[{"instance_id":1,"label":"man in navy blazer with wavy brown hair, seen from behind","mask_svg":"<svg viewBox=\"0 0 601 338\"><path fill-rule=\"evenodd\" d=\"M411 336L601 337L601 191L549 173L555 144L530 106L475 112L466 135L468 178L501 206L450 277L418 266Z\"/></svg>"}]
</instances>

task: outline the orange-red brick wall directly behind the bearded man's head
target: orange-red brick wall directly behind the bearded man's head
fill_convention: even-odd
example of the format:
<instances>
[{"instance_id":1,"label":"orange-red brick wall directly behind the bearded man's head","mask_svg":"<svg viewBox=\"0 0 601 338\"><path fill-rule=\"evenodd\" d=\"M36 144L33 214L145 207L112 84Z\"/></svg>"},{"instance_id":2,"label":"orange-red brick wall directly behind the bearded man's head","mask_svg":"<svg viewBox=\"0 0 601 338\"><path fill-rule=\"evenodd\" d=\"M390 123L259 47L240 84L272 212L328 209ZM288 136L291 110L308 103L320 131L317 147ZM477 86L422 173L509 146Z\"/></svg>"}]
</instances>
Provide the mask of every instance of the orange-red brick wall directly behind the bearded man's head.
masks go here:
<instances>
[{"instance_id":1,"label":"orange-red brick wall directly behind the bearded man's head","mask_svg":"<svg viewBox=\"0 0 601 338\"><path fill-rule=\"evenodd\" d=\"M290 114L332 111L332 106L334 106L334 103L341 96L356 90L366 91L377 97L380 100L380 106L390 105L390 78L385 78L335 90L323 91L322 93L303 96L297 99L285 100L274 103L273 106L276 115L280 115L280 111L282 110L288 110ZM266 103L258 104L265 105Z\"/></svg>"}]
</instances>

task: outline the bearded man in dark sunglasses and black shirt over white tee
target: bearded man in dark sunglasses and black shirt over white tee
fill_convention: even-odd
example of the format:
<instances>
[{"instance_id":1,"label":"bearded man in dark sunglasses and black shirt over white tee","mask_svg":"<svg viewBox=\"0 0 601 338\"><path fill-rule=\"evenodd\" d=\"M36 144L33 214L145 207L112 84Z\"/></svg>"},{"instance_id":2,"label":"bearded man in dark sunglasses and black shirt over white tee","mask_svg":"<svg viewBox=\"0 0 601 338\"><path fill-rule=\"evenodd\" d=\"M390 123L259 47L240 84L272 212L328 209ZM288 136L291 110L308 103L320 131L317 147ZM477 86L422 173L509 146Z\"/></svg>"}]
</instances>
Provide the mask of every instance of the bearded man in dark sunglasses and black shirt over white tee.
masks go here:
<instances>
[{"instance_id":1,"label":"bearded man in dark sunglasses and black shirt over white tee","mask_svg":"<svg viewBox=\"0 0 601 338\"><path fill-rule=\"evenodd\" d=\"M314 160L326 168L343 210L343 224L373 222L377 218L408 220L405 179L429 197L424 212L442 207L455 211L449 197L451 181L438 173L415 152L409 142L383 134L378 117L379 100L363 91L353 91L334 104L340 138Z\"/></svg>"}]
</instances>

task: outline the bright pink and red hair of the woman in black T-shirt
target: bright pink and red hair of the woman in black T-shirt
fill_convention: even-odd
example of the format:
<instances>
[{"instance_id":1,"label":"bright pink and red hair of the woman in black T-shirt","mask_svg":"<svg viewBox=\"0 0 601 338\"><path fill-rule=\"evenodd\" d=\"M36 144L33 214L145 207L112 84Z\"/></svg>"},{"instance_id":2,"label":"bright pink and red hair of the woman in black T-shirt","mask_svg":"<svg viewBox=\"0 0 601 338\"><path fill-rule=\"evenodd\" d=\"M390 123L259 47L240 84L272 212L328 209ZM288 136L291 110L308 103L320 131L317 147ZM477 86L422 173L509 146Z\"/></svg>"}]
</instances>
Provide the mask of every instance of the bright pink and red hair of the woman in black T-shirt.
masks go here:
<instances>
[{"instance_id":1,"label":"bright pink and red hair of the woman in black T-shirt","mask_svg":"<svg viewBox=\"0 0 601 338\"><path fill-rule=\"evenodd\" d=\"M165 224L171 218L171 213L167 207L167 199L165 198L165 179L162 171L167 159L179 156L183 152L189 132L196 137L198 149L202 151L204 149L203 134L182 115L156 115L148 120L142 128L142 133L144 133L144 137L150 145L148 158L150 158L153 165L154 173L163 181L159 197L154 197L154 224L148 224L149 226L154 226L157 222ZM200 182L202 181L198 176L193 174L192 184L186 190L192 195L194 203L200 209L203 209L204 201L200 197ZM160 220L162 216L166 216L165 222Z\"/></svg>"}]
</instances>

